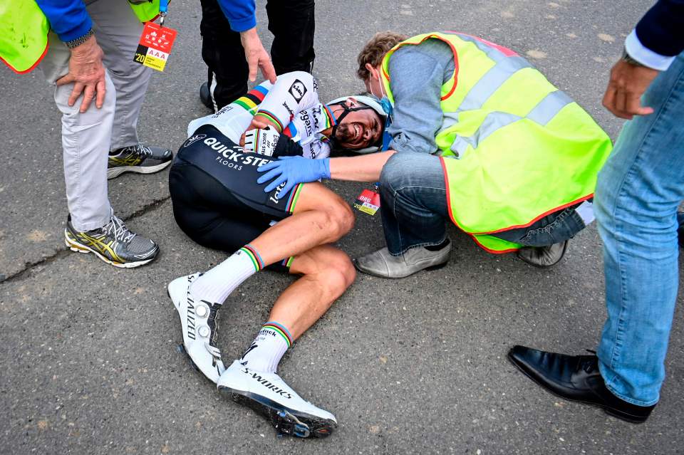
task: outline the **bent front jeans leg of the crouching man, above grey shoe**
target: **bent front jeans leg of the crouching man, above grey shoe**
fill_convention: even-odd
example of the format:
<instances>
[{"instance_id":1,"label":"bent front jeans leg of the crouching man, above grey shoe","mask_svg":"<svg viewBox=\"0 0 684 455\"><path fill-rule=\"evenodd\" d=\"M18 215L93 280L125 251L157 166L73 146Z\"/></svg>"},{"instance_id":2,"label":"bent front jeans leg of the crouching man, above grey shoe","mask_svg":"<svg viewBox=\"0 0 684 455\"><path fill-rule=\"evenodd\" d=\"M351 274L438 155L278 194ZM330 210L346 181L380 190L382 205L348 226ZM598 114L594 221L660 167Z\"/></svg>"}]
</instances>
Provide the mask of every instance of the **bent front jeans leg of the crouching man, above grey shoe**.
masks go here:
<instances>
[{"instance_id":1,"label":"bent front jeans leg of the crouching man, above grey shoe","mask_svg":"<svg viewBox=\"0 0 684 455\"><path fill-rule=\"evenodd\" d=\"M385 241L394 256L416 246L442 243L449 214L440 159L395 153L380 174L380 204Z\"/></svg>"}]
</instances>

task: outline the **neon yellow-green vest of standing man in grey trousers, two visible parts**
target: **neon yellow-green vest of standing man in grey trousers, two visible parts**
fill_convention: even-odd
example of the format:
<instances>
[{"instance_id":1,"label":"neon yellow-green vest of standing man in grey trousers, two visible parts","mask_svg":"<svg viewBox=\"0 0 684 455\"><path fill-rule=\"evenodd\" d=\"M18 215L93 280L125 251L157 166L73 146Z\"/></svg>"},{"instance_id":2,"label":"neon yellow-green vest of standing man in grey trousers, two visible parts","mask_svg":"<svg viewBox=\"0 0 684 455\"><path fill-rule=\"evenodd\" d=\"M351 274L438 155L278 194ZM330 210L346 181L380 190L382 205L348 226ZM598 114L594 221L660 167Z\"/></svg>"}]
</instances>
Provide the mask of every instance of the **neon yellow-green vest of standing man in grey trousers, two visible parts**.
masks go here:
<instances>
[{"instance_id":1,"label":"neon yellow-green vest of standing man in grey trousers, two visible parts","mask_svg":"<svg viewBox=\"0 0 684 455\"><path fill-rule=\"evenodd\" d=\"M159 0L130 6L142 22L159 14ZM0 60L16 73L28 73L43 59L48 31L48 19L35 0L0 0Z\"/></svg>"}]
</instances>

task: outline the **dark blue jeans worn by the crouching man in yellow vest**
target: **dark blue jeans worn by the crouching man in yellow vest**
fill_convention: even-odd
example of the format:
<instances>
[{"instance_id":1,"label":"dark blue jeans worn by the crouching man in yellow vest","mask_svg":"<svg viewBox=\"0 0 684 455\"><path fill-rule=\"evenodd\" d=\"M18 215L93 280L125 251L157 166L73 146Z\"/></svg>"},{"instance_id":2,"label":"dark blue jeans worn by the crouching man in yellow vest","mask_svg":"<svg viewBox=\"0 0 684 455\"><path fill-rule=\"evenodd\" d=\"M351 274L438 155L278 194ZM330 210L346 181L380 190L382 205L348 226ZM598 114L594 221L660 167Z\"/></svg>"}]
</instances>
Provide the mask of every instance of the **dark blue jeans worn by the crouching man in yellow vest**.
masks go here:
<instances>
[{"instance_id":1,"label":"dark blue jeans worn by the crouching man in yellow vest","mask_svg":"<svg viewBox=\"0 0 684 455\"><path fill-rule=\"evenodd\" d=\"M393 155L380 174L380 201L385 241L394 256L445 240L450 217L438 157L415 152ZM497 236L523 245L547 246L570 239L584 227L581 216L570 207L544 216L527 228Z\"/></svg>"}]
</instances>

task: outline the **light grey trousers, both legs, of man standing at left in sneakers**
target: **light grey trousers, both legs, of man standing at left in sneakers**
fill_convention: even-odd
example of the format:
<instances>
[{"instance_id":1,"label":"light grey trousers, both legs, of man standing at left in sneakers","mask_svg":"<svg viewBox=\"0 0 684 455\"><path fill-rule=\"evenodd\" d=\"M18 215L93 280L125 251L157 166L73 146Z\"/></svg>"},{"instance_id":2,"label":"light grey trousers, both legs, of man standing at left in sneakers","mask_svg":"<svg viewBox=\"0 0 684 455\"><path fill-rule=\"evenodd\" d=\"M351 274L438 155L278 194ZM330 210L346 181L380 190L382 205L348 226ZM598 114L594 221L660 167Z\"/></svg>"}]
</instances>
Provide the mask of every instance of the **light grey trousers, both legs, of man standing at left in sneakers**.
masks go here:
<instances>
[{"instance_id":1,"label":"light grey trousers, both legs, of man standing at left in sneakers","mask_svg":"<svg viewBox=\"0 0 684 455\"><path fill-rule=\"evenodd\" d=\"M138 115L145 98L150 68L133 62L142 23L125 0L90 0L86 9L102 48L106 78L105 103L79 113L83 95L69 107L73 84L55 86L55 103L62 113L62 147L66 199L71 222L78 231L108 223L107 157L110 150L138 144ZM48 35L49 49L40 64L48 83L66 75L71 53L56 33Z\"/></svg>"}]
</instances>

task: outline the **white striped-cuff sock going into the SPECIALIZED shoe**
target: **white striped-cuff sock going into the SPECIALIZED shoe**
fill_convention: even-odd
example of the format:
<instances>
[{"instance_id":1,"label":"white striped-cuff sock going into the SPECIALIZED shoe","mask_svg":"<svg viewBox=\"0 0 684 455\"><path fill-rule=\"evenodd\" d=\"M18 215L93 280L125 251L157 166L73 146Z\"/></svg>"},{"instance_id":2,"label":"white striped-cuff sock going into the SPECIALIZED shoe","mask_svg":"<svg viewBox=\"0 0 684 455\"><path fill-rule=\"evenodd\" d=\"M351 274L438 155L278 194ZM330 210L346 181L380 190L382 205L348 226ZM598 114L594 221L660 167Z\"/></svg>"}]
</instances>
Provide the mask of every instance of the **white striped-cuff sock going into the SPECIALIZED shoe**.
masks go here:
<instances>
[{"instance_id":1,"label":"white striped-cuff sock going into the SPECIALIZED shoe","mask_svg":"<svg viewBox=\"0 0 684 455\"><path fill-rule=\"evenodd\" d=\"M222 304L240 283L264 268L264 261L253 246L245 245L218 266L203 273L191 285L198 300Z\"/></svg>"}]
</instances>

